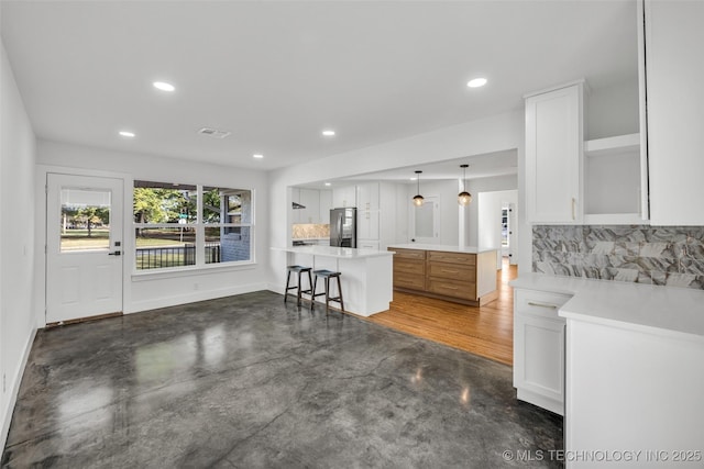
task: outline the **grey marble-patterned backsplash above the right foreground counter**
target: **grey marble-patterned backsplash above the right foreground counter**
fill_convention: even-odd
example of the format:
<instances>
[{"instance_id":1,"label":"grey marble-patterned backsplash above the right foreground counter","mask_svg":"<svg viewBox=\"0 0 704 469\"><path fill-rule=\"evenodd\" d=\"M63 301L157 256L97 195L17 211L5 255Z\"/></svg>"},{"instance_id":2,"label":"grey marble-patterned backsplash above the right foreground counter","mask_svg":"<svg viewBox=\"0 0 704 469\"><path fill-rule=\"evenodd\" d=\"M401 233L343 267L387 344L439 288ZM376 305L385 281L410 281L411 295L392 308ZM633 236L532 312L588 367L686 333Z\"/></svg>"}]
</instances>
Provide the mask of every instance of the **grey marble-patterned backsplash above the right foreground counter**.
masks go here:
<instances>
[{"instance_id":1,"label":"grey marble-patterned backsplash above the right foreground counter","mask_svg":"<svg viewBox=\"0 0 704 469\"><path fill-rule=\"evenodd\" d=\"M532 270L704 289L704 226L536 225Z\"/></svg>"}]
</instances>

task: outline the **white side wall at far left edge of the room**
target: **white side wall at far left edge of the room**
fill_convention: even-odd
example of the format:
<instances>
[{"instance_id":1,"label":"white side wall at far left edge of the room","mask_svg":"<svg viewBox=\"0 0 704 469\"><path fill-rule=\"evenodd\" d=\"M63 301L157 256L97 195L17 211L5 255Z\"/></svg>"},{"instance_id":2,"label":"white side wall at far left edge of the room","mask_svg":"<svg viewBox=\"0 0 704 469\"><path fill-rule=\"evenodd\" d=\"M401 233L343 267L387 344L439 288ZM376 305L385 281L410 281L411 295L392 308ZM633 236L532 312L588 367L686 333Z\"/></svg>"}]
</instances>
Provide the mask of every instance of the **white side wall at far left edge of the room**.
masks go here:
<instances>
[{"instance_id":1,"label":"white side wall at far left edge of the room","mask_svg":"<svg viewBox=\"0 0 704 469\"><path fill-rule=\"evenodd\" d=\"M4 44L0 60L0 447L4 448L35 332L31 292L36 148Z\"/></svg>"}]
</instances>

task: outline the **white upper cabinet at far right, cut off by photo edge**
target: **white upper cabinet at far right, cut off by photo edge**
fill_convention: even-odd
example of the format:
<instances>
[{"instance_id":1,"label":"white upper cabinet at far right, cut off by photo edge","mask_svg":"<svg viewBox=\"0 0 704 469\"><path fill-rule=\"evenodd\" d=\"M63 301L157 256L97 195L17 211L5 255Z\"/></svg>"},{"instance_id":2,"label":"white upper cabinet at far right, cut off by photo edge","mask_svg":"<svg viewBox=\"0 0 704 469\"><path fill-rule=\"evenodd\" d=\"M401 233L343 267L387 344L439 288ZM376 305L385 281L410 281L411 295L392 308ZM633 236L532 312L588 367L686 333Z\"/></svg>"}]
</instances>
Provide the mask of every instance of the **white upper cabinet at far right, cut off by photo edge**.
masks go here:
<instances>
[{"instance_id":1,"label":"white upper cabinet at far right, cut off by photo edge","mask_svg":"<svg viewBox=\"0 0 704 469\"><path fill-rule=\"evenodd\" d=\"M646 1L650 220L704 225L704 2Z\"/></svg>"}]
</instances>

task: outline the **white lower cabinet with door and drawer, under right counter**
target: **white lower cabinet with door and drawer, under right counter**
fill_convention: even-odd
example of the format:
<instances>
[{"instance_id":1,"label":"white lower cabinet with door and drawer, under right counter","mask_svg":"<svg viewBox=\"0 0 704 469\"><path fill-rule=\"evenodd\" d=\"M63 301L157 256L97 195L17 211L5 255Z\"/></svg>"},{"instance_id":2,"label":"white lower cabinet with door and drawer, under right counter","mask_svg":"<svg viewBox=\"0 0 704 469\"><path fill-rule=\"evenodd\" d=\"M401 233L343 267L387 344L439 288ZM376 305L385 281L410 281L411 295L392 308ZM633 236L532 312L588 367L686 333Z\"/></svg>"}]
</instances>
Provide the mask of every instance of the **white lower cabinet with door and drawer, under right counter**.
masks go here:
<instances>
[{"instance_id":1,"label":"white lower cabinet with door and drawer, under right counter","mask_svg":"<svg viewBox=\"0 0 704 469\"><path fill-rule=\"evenodd\" d=\"M570 295L514 292L514 387L521 401L564 415L564 328Z\"/></svg>"}]
</instances>

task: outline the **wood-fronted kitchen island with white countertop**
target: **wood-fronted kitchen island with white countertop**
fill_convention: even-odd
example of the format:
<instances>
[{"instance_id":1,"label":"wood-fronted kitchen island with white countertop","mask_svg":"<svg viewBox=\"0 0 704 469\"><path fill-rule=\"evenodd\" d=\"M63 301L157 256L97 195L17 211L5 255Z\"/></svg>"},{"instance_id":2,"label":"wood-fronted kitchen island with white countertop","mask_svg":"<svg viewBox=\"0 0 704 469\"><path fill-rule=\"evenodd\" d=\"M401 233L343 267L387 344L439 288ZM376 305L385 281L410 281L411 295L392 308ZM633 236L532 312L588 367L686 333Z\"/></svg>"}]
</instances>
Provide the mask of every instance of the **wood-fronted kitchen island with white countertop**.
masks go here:
<instances>
[{"instance_id":1,"label":"wood-fronted kitchen island with white countertop","mask_svg":"<svg viewBox=\"0 0 704 469\"><path fill-rule=\"evenodd\" d=\"M496 249L396 244L394 289L480 306L498 298Z\"/></svg>"}]
</instances>

